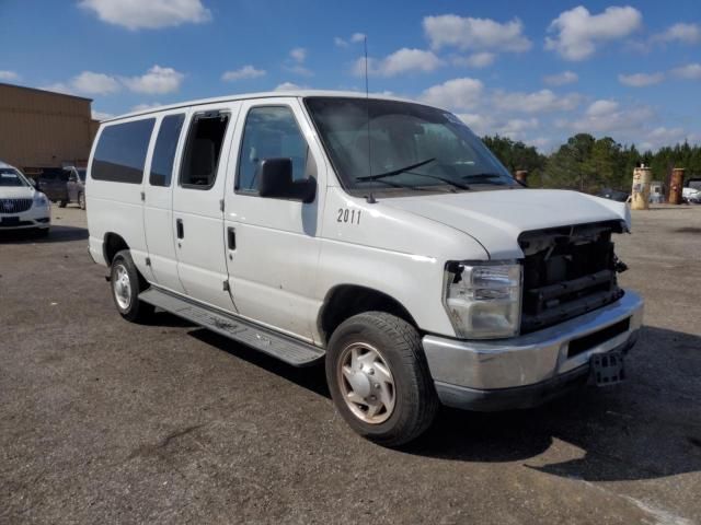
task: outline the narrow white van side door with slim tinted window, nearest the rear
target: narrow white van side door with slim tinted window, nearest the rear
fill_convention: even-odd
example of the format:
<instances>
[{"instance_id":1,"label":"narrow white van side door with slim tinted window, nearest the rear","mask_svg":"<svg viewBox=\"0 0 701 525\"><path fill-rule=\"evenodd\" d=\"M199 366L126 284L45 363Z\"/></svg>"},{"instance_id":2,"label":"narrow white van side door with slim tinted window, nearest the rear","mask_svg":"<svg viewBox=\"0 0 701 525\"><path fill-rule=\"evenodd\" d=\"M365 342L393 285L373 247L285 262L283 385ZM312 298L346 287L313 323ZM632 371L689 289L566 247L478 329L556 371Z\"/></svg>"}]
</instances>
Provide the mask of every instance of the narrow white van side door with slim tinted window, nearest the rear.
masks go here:
<instances>
[{"instance_id":1,"label":"narrow white van side door with slim tinted window, nearest the rear","mask_svg":"<svg viewBox=\"0 0 701 525\"><path fill-rule=\"evenodd\" d=\"M183 148L186 113L182 109L161 116L147 176L143 182L143 231L152 279L159 287L184 293L177 275L173 232L173 182L180 165L175 159Z\"/></svg>"}]
</instances>

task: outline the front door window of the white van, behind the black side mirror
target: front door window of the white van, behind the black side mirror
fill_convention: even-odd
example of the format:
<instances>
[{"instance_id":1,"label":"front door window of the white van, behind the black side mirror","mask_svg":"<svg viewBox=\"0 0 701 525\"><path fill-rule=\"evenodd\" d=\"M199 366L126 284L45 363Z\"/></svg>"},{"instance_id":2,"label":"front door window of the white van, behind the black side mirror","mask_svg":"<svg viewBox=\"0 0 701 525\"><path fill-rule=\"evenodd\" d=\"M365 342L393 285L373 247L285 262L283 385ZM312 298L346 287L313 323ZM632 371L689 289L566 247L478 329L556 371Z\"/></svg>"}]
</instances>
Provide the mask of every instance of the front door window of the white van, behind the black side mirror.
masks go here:
<instances>
[{"instance_id":1,"label":"front door window of the white van, behind the black side mirror","mask_svg":"<svg viewBox=\"0 0 701 525\"><path fill-rule=\"evenodd\" d=\"M257 191L257 172L265 159L290 159L292 179L306 178L309 147L287 106L253 107L243 128L237 190Z\"/></svg>"}]
</instances>

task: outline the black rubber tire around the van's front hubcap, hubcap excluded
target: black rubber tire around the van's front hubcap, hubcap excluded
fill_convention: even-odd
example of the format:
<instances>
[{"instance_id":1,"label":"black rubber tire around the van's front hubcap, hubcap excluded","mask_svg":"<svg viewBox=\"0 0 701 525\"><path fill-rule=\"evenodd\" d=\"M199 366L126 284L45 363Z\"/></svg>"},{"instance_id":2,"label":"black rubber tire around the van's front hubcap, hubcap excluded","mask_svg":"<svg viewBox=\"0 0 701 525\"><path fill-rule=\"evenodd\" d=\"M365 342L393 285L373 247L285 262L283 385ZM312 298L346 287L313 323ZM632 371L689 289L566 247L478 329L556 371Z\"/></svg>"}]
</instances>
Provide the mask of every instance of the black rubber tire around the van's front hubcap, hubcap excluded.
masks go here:
<instances>
[{"instance_id":1,"label":"black rubber tire around the van's front hubcap, hubcap excluded","mask_svg":"<svg viewBox=\"0 0 701 525\"><path fill-rule=\"evenodd\" d=\"M344 381L341 360L358 343L379 351L393 377L394 406L382 422L371 423L356 416L342 393L342 387L347 390L350 383L340 384ZM384 312L355 315L335 329L326 352L326 382L336 408L350 428L384 446L399 446L418 438L430 427L439 405L418 331Z\"/></svg>"}]
</instances>

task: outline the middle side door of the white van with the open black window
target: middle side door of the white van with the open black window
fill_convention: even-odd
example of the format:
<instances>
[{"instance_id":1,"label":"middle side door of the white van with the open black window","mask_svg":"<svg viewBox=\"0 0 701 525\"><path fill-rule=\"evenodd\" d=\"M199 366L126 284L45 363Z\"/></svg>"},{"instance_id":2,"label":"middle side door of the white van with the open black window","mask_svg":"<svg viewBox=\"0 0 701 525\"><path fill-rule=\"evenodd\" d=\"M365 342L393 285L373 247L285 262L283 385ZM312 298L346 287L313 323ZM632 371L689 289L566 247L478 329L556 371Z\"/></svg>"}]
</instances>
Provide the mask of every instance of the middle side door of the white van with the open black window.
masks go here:
<instances>
[{"instance_id":1,"label":"middle side door of the white van with the open black window","mask_svg":"<svg viewBox=\"0 0 701 525\"><path fill-rule=\"evenodd\" d=\"M231 137L240 103L193 110L177 184L172 231L177 275L185 293L226 311L229 293L223 229L223 188Z\"/></svg>"}]
</instances>

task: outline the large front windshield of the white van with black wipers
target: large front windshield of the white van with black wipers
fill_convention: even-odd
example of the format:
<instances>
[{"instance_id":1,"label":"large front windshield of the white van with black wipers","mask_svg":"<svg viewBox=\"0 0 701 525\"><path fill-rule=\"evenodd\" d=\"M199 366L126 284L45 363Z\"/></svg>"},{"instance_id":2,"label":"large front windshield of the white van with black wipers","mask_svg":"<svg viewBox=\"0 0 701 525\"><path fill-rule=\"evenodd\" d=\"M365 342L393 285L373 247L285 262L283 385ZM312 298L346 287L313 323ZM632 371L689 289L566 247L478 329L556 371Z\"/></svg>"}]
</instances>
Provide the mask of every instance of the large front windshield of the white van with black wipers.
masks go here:
<instances>
[{"instance_id":1,"label":"large front windshield of the white van with black wipers","mask_svg":"<svg viewBox=\"0 0 701 525\"><path fill-rule=\"evenodd\" d=\"M518 184L450 113L377 98L312 96L304 102L344 188L352 192Z\"/></svg>"}]
</instances>

